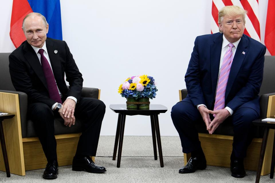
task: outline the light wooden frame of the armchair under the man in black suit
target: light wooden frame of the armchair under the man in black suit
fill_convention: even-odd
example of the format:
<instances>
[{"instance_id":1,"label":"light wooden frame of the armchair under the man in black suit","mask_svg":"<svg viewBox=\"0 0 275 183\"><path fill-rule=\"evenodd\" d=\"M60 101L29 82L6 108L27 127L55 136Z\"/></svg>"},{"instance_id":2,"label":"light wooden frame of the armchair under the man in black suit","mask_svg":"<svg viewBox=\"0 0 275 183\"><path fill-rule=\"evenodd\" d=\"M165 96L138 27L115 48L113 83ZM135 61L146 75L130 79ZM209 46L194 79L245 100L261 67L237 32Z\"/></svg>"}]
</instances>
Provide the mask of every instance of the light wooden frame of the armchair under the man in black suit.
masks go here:
<instances>
[{"instance_id":1,"label":"light wooden frame of the armchair under the man in black suit","mask_svg":"<svg viewBox=\"0 0 275 183\"><path fill-rule=\"evenodd\" d=\"M0 111L15 114L12 119L3 121L10 172L25 176L27 170L45 168L47 160L38 137L22 138L18 94L0 92ZM55 136L59 166L72 164L80 135L81 133ZM95 161L95 157L92 159ZM0 170L5 171L2 153L0 153L0 162Z\"/></svg>"}]
</instances>

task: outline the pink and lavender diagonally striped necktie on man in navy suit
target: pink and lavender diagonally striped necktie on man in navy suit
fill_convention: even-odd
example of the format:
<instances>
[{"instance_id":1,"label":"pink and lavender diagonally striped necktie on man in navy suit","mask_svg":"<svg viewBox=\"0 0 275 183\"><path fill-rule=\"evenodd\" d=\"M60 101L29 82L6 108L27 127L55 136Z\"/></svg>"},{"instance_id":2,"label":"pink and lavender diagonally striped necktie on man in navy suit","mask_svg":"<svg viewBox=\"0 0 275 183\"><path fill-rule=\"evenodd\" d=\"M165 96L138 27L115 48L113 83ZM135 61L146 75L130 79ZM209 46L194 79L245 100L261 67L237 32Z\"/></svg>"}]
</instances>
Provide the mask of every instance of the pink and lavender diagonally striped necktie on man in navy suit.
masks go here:
<instances>
[{"instance_id":1,"label":"pink and lavender diagonally striped necktie on man in navy suit","mask_svg":"<svg viewBox=\"0 0 275 183\"><path fill-rule=\"evenodd\" d=\"M219 76L219 82L216 92L216 100L214 105L214 111L219 109L224 109L224 100L225 100L225 89L228 81L228 76L233 61L233 52L232 48L234 45L232 43L228 44L229 48L226 51L223 57L223 63L221 65L221 71ZM215 117L215 114L213 115Z\"/></svg>"}]
</instances>

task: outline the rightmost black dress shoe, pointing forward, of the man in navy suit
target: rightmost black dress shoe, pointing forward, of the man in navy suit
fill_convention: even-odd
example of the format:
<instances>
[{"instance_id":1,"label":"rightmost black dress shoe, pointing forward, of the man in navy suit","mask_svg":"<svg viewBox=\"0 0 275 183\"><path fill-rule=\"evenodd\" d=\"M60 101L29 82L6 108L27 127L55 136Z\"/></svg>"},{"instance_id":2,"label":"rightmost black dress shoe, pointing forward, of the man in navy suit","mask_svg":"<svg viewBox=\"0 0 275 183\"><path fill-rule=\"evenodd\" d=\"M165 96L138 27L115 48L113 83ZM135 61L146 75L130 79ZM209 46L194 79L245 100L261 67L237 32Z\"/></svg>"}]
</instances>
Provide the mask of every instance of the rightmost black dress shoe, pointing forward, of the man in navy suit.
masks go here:
<instances>
[{"instance_id":1,"label":"rightmost black dress shoe, pointing forward, of the man in navy suit","mask_svg":"<svg viewBox=\"0 0 275 183\"><path fill-rule=\"evenodd\" d=\"M243 166L243 159L236 158L230 162L231 176L236 178L243 178L245 176L245 170Z\"/></svg>"}]
</instances>

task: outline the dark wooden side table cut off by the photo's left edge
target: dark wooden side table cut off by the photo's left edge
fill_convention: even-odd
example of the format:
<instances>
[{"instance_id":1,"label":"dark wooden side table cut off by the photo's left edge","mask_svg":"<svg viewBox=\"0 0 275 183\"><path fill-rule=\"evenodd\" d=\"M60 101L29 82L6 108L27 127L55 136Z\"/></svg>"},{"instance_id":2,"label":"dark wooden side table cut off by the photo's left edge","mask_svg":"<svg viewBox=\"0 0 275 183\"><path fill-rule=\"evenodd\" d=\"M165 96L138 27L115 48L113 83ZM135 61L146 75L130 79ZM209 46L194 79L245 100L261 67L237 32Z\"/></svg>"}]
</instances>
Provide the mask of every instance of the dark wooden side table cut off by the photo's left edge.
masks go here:
<instances>
[{"instance_id":1,"label":"dark wooden side table cut off by the photo's left edge","mask_svg":"<svg viewBox=\"0 0 275 183\"><path fill-rule=\"evenodd\" d=\"M0 141L1 141L1 147L2 147L2 152L3 152L7 177L11 177L11 174L9 172L9 162L8 162L7 149L6 149L6 143L5 143L5 137L4 137L2 121L5 120L5 119L11 119L11 118L13 118L13 116L15 116L15 115L14 114L0 115Z\"/></svg>"}]
</instances>

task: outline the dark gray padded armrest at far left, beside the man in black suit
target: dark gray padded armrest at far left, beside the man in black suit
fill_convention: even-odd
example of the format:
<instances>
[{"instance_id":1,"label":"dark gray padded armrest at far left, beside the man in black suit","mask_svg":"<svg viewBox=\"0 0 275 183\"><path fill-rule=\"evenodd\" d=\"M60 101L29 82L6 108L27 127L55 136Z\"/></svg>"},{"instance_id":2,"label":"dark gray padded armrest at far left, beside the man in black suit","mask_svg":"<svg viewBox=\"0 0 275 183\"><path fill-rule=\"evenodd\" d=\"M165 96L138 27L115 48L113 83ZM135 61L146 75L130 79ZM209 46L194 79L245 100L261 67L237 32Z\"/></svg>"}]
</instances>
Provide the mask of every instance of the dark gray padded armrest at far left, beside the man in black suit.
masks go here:
<instances>
[{"instance_id":1,"label":"dark gray padded armrest at far left, beside the man in black suit","mask_svg":"<svg viewBox=\"0 0 275 183\"><path fill-rule=\"evenodd\" d=\"M9 90L0 90L0 92L18 94L22 137L27 136L28 95L23 92L16 92L16 91L9 91Z\"/></svg>"}]
</instances>

